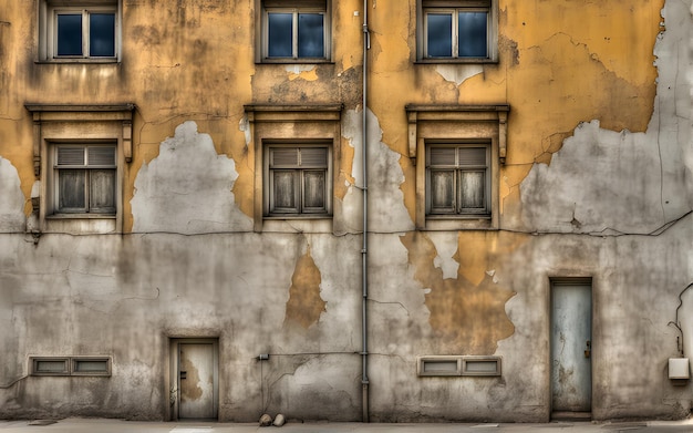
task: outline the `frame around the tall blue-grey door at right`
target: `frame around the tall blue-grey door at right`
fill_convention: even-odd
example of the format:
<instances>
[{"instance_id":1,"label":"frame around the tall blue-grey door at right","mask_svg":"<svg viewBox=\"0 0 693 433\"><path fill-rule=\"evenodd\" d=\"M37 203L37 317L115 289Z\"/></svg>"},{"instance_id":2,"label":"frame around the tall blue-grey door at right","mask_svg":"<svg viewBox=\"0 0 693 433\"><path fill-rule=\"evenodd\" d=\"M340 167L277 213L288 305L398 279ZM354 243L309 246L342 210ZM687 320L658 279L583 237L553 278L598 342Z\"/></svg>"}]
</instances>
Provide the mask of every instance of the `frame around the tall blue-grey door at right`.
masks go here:
<instances>
[{"instance_id":1,"label":"frame around the tall blue-grey door at right","mask_svg":"<svg viewBox=\"0 0 693 433\"><path fill-rule=\"evenodd\" d=\"M590 409L588 412L556 412L554 410L554 360L552 360L552 327L554 327L554 287L556 285L583 285L590 288ZM596 290L592 277L549 277L548 286L548 402L549 420L577 419L591 420L594 410L594 305Z\"/></svg>"}]
</instances>

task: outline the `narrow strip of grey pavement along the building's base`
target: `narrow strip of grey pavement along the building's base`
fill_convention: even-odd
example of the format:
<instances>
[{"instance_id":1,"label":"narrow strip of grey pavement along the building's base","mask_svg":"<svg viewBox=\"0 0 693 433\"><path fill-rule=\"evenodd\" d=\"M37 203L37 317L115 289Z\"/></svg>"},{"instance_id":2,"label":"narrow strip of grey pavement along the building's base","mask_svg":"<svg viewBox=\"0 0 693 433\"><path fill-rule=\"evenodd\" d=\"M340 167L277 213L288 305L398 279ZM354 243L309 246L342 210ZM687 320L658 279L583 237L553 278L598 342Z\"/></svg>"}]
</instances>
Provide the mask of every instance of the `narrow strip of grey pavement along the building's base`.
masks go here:
<instances>
[{"instance_id":1,"label":"narrow strip of grey pavement along the building's base","mask_svg":"<svg viewBox=\"0 0 693 433\"><path fill-rule=\"evenodd\" d=\"M0 421L0 433L692 433L693 420L639 422L511 423L257 423L138 422L103 419Z\"/></svg>"}]
</instances>

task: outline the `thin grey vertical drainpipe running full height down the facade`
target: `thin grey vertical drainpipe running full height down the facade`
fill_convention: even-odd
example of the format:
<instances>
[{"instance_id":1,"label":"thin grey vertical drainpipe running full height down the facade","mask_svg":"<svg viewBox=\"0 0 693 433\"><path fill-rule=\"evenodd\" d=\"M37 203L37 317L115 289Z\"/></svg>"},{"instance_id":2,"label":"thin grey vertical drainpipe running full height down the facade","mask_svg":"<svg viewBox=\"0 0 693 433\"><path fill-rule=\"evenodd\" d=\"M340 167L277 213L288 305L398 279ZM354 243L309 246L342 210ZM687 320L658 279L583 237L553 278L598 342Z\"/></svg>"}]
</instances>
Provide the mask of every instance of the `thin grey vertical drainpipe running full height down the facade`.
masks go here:
<instances>
[{"instance_id":1,"label":"thin grey vertical drainpipe running full height down the facade","mask_svg":"<svg viewBox=\"0 0 693 433\"><path fill-rule=\"evenodd\" d=\"M362 155L361 163L363 166L363 246L361 248L361 340L363 348L361 350L361 410L363 422L369 422L369 336L368 336L368 298L369 298L369 275L368 275L368 257L369 257L369 178L368 178L368 50L371 48L371 35L369 33L369 1L363 0L363 101L362 101Z\"/></svg>"}]
</instances>

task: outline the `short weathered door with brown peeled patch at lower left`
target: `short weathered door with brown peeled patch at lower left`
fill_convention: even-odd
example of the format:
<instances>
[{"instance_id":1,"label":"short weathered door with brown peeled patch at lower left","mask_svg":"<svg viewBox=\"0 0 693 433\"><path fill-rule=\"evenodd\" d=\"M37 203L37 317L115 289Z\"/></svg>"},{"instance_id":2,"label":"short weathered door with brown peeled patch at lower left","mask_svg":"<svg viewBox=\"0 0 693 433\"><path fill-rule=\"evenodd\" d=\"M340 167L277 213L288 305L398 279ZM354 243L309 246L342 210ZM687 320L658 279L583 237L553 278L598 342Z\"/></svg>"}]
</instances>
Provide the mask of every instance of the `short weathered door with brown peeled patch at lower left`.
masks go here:
<instances>
[{"instance_id":1,"label":"short weathered door with brown peeled patch at lower left","mask_svg":"<svg viewBox=\"0 0 693 433\"><path fill-rule=\"evenodd\" d=\"M215 419L215 344L178 344L178 417Z\"/></svg>"}]
</instances>

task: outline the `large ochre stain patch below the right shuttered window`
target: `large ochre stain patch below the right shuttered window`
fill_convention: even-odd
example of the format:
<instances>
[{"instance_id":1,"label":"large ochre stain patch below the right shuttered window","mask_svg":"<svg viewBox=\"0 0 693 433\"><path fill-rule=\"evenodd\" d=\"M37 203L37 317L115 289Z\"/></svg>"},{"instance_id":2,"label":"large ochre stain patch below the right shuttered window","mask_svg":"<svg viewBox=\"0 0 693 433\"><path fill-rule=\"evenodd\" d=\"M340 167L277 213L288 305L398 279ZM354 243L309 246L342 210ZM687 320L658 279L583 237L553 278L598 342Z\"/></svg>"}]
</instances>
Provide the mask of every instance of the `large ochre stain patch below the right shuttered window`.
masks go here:
<instances>
[{"instance_id":1,"label":"large ochre stain patch below the right shuttered window","mask_svg":"<svg viewBox=\"0 0 693 433\"><path fill-rule=\"evenodd\" d=\"M431 289L425 301L431 312L428 321L445 346L465 354L492 354L499 340L515 333L505 305L516 293L496 283L486 271L475 281L465 277L477 277L469 269L480 269L479 260L485 266L487 259L472 257L469 261L461 260L457 278L443 278L443 271L434 265L437 256L435 246L424 234L413 231L400 239L408 250L408 262L415 269L414 279ZM493 249L489 243L494 240L486 240L486 247L478 250ZM470 244L474 246L466 244L465 251L477 249L477 243ZM462 256L461 250L456 258Z\"/></svg>"}]
</instances>

